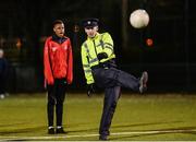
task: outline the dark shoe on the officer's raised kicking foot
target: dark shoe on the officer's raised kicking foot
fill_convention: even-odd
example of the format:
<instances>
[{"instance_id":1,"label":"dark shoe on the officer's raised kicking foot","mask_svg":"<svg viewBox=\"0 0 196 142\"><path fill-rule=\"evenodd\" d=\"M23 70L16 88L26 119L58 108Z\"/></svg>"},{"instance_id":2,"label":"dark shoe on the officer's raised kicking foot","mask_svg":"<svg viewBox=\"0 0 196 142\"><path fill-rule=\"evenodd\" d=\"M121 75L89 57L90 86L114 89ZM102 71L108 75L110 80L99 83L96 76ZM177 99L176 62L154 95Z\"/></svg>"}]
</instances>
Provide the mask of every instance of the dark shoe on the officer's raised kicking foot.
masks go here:
<instances>
[{"instance_id":1,"label":"dark shoe on the officer's raised kicking foot","mask_svg":"<svg viewBox=\"0 0 196 142\"><path fill-rule=\"evenodd\" d=\"M144 93L147 90L147 82L148 82L148 73L146 71L143 72L140 80L139 80L139 92Z\"/></svg>"}]
</instances>

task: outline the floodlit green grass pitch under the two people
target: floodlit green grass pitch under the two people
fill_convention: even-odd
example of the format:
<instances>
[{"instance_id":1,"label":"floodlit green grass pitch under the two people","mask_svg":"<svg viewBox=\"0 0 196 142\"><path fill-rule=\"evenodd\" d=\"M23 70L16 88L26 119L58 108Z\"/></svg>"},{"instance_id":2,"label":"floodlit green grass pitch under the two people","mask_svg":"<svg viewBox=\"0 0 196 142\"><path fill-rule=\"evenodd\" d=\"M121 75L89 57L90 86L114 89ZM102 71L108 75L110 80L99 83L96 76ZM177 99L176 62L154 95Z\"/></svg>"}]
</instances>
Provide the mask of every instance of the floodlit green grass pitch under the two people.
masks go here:
<instances>
[{"instance_id":1,"label":"floodlit green grass pitch under the two people","mask_svg":"<svg viewBox=\"0 0 196 142\"><path fill-rule=\"evenodd\" d=\"M97 141L103 94L69 93L63 126L68 134L47 134L46 94L0 99L0 140ZM111 141L196 141L196 95L122 94Z\"/></svg>"}]
</instances>

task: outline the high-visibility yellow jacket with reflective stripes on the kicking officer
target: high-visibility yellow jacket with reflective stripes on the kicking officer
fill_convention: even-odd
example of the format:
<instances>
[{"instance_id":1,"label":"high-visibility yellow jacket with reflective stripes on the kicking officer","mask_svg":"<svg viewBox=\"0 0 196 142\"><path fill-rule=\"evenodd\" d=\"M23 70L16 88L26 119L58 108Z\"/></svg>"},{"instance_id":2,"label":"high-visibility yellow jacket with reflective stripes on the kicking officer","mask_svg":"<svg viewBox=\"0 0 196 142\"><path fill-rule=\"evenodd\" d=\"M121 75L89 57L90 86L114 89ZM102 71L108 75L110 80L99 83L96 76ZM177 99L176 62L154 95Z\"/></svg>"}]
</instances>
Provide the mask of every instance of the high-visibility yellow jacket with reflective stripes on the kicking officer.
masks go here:
<instances>
[{"instance_id":1,"label":"high-visibility yellow jacket with reflective stripes on the kicking officer","mask_svg":"<svg viewBox=\"0 0 196 142\"><path fill-rule=\"evenodd\" d=\"M108 55L108 58L101 59L99 61L97 55L101 52L106 52ZM91 84L95 81L90 68L94 66L98 66L100 62L105 62L112 58L115 58L113 50L113 40L110 34L97 33L97 35L94 38L87 37L87 39L82 45L81 55L86 83Z\"/></svg>"}]
</instances>

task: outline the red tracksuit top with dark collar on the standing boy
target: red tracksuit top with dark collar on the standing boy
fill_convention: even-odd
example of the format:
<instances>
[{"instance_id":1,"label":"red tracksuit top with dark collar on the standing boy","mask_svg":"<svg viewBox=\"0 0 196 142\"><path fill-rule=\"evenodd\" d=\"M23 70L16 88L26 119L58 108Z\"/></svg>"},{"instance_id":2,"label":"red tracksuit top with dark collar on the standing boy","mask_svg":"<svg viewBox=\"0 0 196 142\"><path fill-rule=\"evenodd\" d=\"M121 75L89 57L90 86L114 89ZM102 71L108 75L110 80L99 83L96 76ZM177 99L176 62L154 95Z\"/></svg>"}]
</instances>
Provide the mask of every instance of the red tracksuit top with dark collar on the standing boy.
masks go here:
<instances>
[{"instance_id":1,"label":"red tracksuit top with dark collar on the standing boy","mask_svg":"<svg viewBox=\"0 0 196 142\"><path fill-rule=\"evenodd\" d=\"M69 37L56 35L46 39L44 48L44 73L47 84L53 84L54 79L66 79L68 84L73 81L73 55Z\"/></svg>"}]
</instances>

